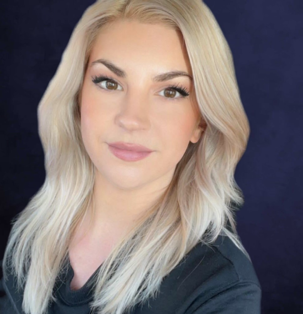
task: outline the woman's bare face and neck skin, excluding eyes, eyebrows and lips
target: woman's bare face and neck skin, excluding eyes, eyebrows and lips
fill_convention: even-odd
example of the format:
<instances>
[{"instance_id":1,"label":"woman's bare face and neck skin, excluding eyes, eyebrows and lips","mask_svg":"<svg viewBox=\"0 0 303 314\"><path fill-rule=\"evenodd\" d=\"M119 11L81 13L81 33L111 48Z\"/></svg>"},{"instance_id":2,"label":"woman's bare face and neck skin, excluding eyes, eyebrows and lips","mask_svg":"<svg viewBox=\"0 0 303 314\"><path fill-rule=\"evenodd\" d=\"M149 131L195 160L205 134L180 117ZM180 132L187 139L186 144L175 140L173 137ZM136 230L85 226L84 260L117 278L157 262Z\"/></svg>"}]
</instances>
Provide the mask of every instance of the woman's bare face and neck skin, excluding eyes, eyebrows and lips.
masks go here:
<instances>
[{"instance_id":1,"label":"woman's bare face and neck skin, excluding eyes, eyebrows and lips","mask_svg":"<svg viewBox=\"0 0 303 314\"><path fill-rule=\"evenodd\" d=\"M127 77L117 76L100 63L91 66L100 58L122 68ZM100 250L92 257L91 269L82 277L82 283L133 219L160 197L189 142L196 143L201 136L201 116L192 80L180 76L164 82L152 81L155 75L172 70L192 76L181 33L166 26L115 21L106 25L95 41L85 73L80 111L84 146L96 167L96 216L88 235L78 242L78 262L81 264L79 256L84 255L84 250L96 252L96 245ZM92 82L92 77L101 74L113 78L117 89L106 90L106 81L99 83L105 89ZM165 96L171 84L183 85L190 95L181 98L181 94L172 91L175 98ZM139 161L120 160L107 144L116 141L142 144L154 151Z\"/></svg>"}]
</instances>

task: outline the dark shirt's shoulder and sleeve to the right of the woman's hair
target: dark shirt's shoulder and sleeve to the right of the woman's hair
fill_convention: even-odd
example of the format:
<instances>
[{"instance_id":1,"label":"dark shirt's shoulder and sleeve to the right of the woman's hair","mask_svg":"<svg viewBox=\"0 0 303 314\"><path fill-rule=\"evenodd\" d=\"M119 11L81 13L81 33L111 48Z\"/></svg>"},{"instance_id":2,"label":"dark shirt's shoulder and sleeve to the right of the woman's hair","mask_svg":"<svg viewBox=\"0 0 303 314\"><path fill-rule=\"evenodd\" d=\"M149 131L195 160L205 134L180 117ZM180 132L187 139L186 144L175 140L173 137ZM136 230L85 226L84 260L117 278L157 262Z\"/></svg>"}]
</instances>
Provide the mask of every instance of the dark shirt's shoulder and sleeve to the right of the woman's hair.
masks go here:
<instances>
[{"instance_id":1,"label":"dark shirt's shoulder and sleeve to the right of the woman's hair","mask_svg":"<svg viewBox=\"0 0 303 314\"><path fill-rule=\"evenodd\" d=\"M227 236L198 243L163 280L151 308L138 313L259 314L261 286L246 255Z\"/></svg>"}]
</instances>

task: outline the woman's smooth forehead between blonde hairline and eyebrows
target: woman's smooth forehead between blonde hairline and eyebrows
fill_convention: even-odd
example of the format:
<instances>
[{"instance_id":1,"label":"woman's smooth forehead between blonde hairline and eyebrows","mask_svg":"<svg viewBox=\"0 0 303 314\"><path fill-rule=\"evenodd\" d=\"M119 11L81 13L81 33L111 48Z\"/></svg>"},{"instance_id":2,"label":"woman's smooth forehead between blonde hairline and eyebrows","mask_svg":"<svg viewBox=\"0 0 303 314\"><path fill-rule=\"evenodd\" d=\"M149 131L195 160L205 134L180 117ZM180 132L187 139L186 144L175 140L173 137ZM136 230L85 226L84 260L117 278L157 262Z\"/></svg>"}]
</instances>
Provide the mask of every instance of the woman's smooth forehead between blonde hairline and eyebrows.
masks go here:
<instances>
[{"instance_id":1,"label":"woman's smooth forehead between blonde hairline and eyebrows","mask_svg":"<svg viewBox=\"0 0 303 314\"><path fill-rule=\"evenodd\" d=\"M112 60L126 71L183 70L192 75L185 42L180 31L163 24L119 20L106 24L94 42L89 62Z\"/></svg>"}]
</instances>

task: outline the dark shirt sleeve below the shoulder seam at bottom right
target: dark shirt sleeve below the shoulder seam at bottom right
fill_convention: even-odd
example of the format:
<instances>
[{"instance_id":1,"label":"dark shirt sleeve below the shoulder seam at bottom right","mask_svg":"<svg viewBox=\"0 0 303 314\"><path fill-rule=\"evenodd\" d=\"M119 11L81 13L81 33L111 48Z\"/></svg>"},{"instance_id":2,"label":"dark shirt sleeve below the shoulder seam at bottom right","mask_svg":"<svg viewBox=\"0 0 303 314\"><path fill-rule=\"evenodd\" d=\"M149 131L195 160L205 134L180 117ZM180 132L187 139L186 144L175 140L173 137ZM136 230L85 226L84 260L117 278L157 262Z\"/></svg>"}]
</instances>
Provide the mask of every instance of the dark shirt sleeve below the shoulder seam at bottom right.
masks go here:
<instances>
[{"instance_id":1,"label":"dark shirt sleeve below the shoulder seam at bottom right","mask_svg":"<svg viewBox=\"0 0 303 314\"><path fill-rule=\"evenodd\" d=\"M195 302L196 303L196 302ZM260 314L261 287L253 282L237 283L200 304L187 314Z\"/></svg>"}]
</instances>

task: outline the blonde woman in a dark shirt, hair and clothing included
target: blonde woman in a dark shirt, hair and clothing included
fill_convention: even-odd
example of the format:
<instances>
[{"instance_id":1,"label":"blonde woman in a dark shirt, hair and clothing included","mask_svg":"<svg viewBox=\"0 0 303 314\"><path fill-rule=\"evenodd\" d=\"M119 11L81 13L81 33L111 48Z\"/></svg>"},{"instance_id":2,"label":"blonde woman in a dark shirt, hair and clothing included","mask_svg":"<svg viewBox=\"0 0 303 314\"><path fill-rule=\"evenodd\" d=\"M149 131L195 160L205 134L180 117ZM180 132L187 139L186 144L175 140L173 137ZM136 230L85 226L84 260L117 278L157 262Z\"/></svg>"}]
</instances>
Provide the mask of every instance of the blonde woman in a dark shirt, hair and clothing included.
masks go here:
<instances>
[{"instance_id":1,"label":"blonde woman in a dark shirt, hair and clothing included","mask_svg":"<svg viewBox=\"0 0 303 314\"><path fill-rule=\"evenodd\" d=\"M260 312L235 229L249 124L204 3L94 3L38 121L46 179L9 236L2 312Z\"/></svg>"}]
</instances>

